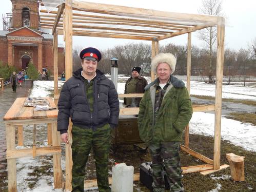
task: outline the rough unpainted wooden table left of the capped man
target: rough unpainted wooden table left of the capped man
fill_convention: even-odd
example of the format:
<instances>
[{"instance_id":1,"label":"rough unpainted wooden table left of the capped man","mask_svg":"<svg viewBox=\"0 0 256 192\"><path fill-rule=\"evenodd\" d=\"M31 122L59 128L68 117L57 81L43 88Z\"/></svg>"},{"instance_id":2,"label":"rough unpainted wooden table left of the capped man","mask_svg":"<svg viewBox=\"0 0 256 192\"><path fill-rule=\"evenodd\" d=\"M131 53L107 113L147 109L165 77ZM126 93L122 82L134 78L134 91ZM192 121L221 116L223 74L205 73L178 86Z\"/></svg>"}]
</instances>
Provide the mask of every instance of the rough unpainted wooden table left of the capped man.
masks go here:
<instances>
[{"instance_id":1,"label":"rough unpainted wooden table left of the capped man","mask_svg":"<svg viewBox=\"0 0 256 192\"><path fill-rule=\"evenodd\" d=\"M8 168L8 191L17 191L16 159L53 155L54 188L62 188L61 138L57 131L57 110L34 111L34 107L24 107L26 98L17 98L4 117L6 124L6 159ZM51 98L47 98L50 107L56 107ZM48 146L16 149L15 128L18 127L18 145L23 145L23 125L48 124ZM33 135L35 139L35 132Z\"/></svg>"}]
</instances>

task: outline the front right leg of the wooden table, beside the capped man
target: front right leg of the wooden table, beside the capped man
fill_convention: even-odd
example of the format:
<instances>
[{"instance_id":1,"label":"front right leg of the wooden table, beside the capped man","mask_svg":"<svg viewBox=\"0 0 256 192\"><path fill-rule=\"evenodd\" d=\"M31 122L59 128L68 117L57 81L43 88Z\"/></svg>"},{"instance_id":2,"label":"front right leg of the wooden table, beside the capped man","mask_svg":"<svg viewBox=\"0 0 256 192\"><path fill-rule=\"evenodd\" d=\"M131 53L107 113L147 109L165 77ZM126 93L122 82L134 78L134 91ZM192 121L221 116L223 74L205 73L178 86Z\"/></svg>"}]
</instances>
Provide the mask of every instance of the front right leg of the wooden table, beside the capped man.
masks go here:
<instances>
[{"instance_id":1,"label":"front right leg of the wooden table, beside the capped man","mask_svg":"<svg viewBox=\"0 0 256 192\"><path fill-rule=\"evenodd\" d=\"M52 146L60 146L61 145L61 136L57 131L57 124L52 123ZM62 166L61 166L61 153L53 154L53 180L54 180L54 188L62 188Z\"/></svg>"}]
</instances>

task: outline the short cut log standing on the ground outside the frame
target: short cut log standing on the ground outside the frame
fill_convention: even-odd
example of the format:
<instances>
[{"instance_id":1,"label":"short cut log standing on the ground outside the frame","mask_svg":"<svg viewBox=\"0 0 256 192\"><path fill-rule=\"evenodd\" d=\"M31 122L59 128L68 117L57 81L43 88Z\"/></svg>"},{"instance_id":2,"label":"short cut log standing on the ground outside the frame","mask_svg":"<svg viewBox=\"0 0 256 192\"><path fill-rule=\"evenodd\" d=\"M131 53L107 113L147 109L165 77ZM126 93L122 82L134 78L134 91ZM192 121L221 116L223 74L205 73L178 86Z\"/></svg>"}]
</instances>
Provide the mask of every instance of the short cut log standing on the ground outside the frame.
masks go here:
<instances>
[{"instance_id":1,"label":"short cut log standing on the ground outside the frame","mask_svg":"<svg viewBox=\"0 0 256 192\"><path fill-rule=\"evenodd\" d=\"M227 153L226 158L230 165L231 176L234 181L244 181L244 158L234 155L234 153Z\"/></svg>"}]
</instances>

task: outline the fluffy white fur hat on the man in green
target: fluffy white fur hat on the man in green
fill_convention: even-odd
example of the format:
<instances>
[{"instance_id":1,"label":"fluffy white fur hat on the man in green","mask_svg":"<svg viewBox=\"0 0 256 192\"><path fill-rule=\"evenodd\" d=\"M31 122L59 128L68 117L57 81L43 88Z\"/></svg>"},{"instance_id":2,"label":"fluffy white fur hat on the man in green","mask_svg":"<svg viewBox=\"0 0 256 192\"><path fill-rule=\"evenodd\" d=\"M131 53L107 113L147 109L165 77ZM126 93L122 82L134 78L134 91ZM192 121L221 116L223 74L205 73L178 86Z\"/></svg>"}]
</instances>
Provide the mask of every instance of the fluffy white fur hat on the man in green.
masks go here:
<instances>
[{"instance_id":1,"label":"fluffy white fur hat on the man in green","mask_svg":"<svg viewBox=\"0 0 256 192\"><path fill-rule=\"evenodd\" d=\"M151 70L156 73L156 68L160 63L167 63L171 68L171 74L175 71L176 57L171 53L159 53L151 61Z\"/></svg>"}]
</instances>

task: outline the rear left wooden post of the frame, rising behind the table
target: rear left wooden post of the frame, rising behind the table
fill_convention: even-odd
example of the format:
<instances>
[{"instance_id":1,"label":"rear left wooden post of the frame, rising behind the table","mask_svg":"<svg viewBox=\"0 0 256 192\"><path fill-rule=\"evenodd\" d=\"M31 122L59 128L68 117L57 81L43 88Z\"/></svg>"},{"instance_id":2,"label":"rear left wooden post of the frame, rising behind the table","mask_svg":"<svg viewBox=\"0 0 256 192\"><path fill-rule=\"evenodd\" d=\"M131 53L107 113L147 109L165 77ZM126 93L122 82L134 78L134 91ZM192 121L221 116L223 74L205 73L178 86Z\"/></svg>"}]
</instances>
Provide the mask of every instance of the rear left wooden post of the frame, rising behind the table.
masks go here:
<instances>
[{"instance_id":1,"label":"rear left wooden post of the frame, rising behind the table","mask_svg":"<svg viewBox=\"0 0 256 192\"><path fill-rule=\"evenodd\" d=\"M54 103L57 106L58 100L55 99L55 95L58 94L58 35L55 31L53 35L53 81L54 81Z\"/></svg>"}]
</instances>

